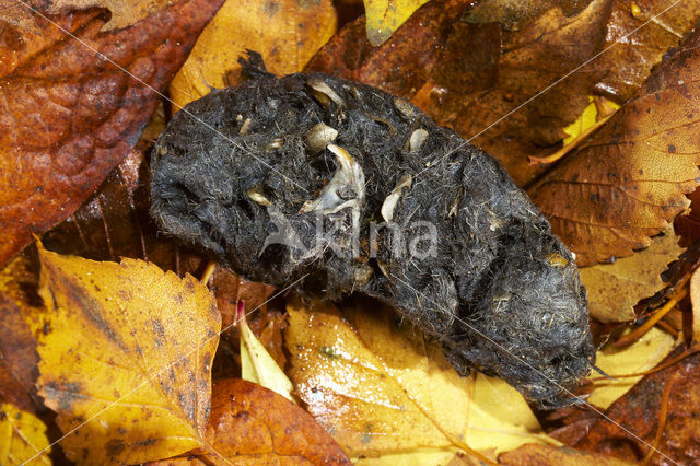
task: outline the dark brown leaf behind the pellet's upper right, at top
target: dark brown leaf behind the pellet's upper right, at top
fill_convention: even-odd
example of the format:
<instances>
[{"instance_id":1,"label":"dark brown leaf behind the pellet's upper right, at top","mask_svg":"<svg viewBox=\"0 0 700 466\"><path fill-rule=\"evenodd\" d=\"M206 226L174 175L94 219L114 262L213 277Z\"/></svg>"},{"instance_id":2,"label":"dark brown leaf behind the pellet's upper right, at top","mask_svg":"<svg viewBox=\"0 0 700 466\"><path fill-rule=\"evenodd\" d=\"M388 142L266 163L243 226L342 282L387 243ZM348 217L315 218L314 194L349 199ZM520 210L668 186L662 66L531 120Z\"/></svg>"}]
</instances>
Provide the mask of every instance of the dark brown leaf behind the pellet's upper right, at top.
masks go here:
<instances>
[{"instance_id":1,"label":"dark brown leaf behind the pellet's upper right, at top","mask_svg":"<svg viewBox=\"0 0 700 466\"><path fill-rule=\"evenodd\" d=\"M459 18L471 12L468 2L433 0L376 48L363 37L360 19L319 50L307 70L411 98L468 139L602 48L610 0L595 0L583 11L565 4L550 7L520 31L503 31L493 23L497 12L491 21L486 13L479 16L485 24L465 23ZM530 167L527 155L565 137L563 128L586 106L599 78L572 74L474 142L499 159L517 184L529 183L545 168Z\"/></svg>"}]
</instances>

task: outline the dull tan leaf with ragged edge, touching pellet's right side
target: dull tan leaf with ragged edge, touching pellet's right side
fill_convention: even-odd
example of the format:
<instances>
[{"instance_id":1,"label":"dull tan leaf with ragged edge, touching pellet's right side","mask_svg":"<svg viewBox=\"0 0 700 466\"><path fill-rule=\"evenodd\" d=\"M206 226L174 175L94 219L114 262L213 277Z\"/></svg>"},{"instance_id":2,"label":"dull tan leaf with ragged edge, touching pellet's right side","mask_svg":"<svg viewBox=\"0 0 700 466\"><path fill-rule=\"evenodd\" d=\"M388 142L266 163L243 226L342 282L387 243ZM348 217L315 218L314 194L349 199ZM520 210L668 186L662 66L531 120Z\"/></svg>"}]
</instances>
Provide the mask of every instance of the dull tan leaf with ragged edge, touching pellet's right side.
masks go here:
<instances>
[{"instance_id":1,"label":"dull tan leaf with ragged edge, touching pellet's right side","mask_svg":"<svg viewBox=\"0 0 700 466\"><path fill-rule=\"evenodd\" d=\"M682 251L673 230L667 230L654 237L646 249L630 257L579 269L588 292L591 316L606 324L637 318L634 305L666 286L661 273Z\"/></svg>"}]
</instances>

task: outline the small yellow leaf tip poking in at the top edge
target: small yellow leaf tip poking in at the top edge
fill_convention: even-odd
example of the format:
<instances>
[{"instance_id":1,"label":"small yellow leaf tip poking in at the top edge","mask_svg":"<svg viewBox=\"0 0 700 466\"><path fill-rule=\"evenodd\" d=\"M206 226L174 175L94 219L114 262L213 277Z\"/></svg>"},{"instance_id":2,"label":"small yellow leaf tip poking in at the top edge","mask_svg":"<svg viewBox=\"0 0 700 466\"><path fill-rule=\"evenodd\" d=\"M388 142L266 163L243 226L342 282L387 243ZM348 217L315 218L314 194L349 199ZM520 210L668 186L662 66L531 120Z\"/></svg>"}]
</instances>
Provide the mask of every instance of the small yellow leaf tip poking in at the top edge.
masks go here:
<instances>
[{"instance_id":1,"label":"small yellow leaf tip poking in at the top edge","mask_svg":"<svg viewBox=\"0 0 700 466\"><path fill-rule=\"evenodd\" d=\"M368 39L373 46L382 45L408 20L416 10L430 0L364 0L368 18Z\"/></svg>"}]
</instances>

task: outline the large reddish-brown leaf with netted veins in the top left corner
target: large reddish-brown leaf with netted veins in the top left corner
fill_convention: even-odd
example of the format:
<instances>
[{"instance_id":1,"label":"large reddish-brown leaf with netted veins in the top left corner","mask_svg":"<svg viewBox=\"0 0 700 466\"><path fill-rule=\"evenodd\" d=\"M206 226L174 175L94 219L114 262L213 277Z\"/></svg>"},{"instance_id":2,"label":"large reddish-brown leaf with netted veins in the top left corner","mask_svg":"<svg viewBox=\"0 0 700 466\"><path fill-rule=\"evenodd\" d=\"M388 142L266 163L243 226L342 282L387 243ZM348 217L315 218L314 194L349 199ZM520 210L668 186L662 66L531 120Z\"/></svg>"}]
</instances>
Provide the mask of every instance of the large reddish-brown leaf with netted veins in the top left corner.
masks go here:
<instances>
[{"instance_id":1,"label":"large reddish-brown leaf with netted veins in the top left corner","mask_svg":"<svg viewBox=\"0 0 700 466\"><path fill-rule=\"evenodd\" d=\"M164 89L220 2L184 0L107 33L94 10L49 16L82 43L48 21L39 23L51 42L27 44L36 36L16 26L16 40L3 36L0 56L13 66L0 74L0 264L71 214L127 155L158 104L147 84Z\"/></svg>"}]
</instances>

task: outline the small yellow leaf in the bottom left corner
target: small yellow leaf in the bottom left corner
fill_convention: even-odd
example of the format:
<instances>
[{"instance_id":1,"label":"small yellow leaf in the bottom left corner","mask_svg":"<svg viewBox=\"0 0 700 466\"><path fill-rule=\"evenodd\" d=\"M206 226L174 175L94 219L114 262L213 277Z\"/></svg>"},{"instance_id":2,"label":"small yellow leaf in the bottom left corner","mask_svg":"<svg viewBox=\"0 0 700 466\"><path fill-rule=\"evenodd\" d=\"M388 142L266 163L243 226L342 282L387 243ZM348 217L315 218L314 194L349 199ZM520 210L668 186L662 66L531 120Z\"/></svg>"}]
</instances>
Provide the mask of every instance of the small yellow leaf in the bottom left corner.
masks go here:
<instances>
[{"instance_id":1,"label":"small yellow leaf in the bottom left corner","mask_svg":"<svg viewBox=\"0 0 700 466\"><path fill-rule=\"evenodd\" d=\"M44 422L13 405L0 404L0 465L50 465L49 453Z\"/></svg>"}]
</instances>

